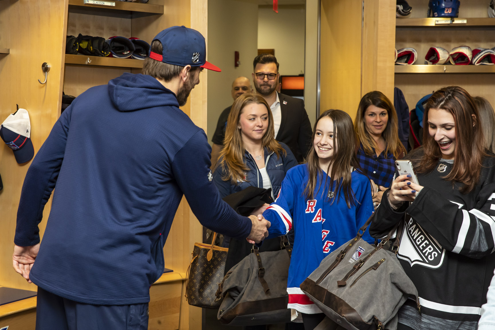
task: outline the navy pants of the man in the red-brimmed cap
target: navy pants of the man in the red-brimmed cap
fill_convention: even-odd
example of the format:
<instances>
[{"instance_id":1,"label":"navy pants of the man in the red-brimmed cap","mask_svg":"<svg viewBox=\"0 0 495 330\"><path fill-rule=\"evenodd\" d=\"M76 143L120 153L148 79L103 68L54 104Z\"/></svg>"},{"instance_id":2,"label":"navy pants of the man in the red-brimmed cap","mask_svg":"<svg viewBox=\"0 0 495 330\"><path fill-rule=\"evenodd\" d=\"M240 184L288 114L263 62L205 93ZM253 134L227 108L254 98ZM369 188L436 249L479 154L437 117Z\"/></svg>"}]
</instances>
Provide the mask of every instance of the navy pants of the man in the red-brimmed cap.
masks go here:
<instances>
[{"instance_id":1,"label":"navy pants of the man in the red-brimmed cap","mask_svg":"<svg viewBox=\"0 0 495 330\"><path fill-rule=\"evenodd\" d=\"M147 330L148 303L90 305L38 286L36 330Z\"/></svg>"}]
</instances>

